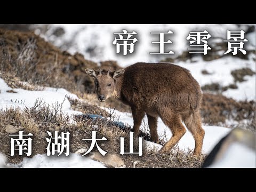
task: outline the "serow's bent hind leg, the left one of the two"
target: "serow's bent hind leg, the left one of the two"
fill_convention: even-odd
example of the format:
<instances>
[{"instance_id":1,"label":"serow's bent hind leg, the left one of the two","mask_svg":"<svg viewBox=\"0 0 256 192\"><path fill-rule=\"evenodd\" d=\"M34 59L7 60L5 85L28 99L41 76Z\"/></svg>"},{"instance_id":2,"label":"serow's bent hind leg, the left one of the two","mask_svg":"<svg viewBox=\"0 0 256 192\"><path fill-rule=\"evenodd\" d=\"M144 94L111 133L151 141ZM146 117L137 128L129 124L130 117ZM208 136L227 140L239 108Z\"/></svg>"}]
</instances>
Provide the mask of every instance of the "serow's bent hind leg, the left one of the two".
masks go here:
<instances>
[{"instance_id":1,"label":"serow's bent hind leg, the left one of the two","mask_svg":"<svg viewBox=\"0 0 256 192\"><path fill-rule=\"evenodd\" d=\"M169 110L161 114L161 118L165 125L169 126L172 131L171 139L165 143L162 149L162 151L166 153L179 142L182 136L186 133L186 128L181 123L180 115L172 114Z\"/></svg>"}]
</instances>

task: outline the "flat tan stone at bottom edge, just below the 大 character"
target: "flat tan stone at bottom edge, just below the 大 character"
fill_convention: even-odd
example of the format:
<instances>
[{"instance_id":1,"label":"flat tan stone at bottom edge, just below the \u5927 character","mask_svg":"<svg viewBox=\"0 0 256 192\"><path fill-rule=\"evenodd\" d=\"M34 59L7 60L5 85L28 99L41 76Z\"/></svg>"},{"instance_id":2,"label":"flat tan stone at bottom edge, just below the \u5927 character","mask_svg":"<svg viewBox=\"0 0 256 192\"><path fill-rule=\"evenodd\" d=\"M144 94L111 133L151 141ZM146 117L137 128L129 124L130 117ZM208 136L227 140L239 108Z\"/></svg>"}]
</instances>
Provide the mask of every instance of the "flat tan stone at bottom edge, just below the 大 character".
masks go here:
<instances>
[{"instance_id":1,"label":"flat tan stone at bottom edge, just below the \u5927 character","mask_svg":"<svg viewBox=\"0 0 256 192\"><path fill-rule=\"evenodd\" d=\"M108 167L125 168L125 164L123 160L120 157L118 157L116 154L108 153L105 156L103 156L99 152L93 152L91 153L90 158L92 158L93 160L99 161Z\"/></svg>"}]
</instances>

